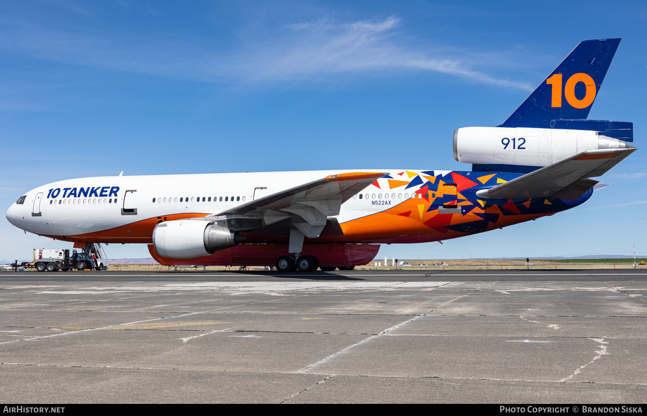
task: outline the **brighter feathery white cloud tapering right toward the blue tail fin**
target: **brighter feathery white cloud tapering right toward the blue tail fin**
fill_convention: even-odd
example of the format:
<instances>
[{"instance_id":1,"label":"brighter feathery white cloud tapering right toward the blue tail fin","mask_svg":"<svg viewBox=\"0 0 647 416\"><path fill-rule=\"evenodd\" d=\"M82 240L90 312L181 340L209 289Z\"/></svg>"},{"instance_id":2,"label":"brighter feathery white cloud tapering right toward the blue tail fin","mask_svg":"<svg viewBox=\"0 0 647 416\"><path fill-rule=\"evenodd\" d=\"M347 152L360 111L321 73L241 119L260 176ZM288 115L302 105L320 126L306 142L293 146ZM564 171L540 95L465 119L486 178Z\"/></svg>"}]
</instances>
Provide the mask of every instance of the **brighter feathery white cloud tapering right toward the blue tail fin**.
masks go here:
<instances>
[{"instance_id":1,"label":"brighter feathery white cloud tapering right toward the blue tail fin","mask_svg":"<svg viewBox=\"0 0 647 416\"><path fill-rule=\"evenodd\" d=\"M234 56L232 69L248 79L313 79L333 74L378 74L402 70L442 72L478 83L531 90L529 83L496 78L474 70L467 54L440 48L426 50L406 45L400 19L336 23L320 21L285 26L281 39L273 39L245 54ZM472 57L473 58L473 57Z\"/></svg>"}]
</instances>

